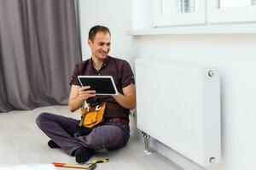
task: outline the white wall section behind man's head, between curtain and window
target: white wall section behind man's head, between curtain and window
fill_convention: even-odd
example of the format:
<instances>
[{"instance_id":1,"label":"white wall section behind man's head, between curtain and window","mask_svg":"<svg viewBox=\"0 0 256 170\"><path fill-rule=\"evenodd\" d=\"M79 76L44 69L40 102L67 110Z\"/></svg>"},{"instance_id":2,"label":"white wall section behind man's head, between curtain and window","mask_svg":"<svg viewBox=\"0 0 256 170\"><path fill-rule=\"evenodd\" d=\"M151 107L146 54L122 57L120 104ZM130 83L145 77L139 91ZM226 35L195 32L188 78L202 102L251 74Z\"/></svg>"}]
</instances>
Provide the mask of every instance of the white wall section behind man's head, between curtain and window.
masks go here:
<instances>
[{"instance_id":1,"label":"white wall section behind man's head, between curtain and window","mask_svg":"<svg viewBox=\"0 0 256 170\"><path fill-rule=\"evenodd\" d=\"M131 59L131 39L125 30L131 29L131 3L127 0L80 0L80 27L83 59L90 58L87 45L88 32L92 26L107 26L112 34L109 55Z\"/></svg>"}]
</instances>

